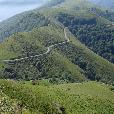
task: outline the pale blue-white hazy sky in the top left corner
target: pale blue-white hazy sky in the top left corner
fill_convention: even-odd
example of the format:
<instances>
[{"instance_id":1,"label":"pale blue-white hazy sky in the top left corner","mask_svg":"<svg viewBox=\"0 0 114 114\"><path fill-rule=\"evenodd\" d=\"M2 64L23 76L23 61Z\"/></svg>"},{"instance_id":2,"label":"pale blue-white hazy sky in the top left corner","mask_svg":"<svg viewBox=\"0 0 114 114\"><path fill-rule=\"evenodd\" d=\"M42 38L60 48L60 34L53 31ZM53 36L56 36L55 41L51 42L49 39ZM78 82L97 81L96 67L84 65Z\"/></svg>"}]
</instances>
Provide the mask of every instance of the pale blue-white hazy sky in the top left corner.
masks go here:
<instances>
[{"instance_id":1,"label":"pale blue-white hazy sky in the top left corner","mask_svg":"<svg viewBox=\"0 0 114 114\"><path fill-rule=\"evenodd\" d=\"M0 21L15 14L37 8L47 0L0 0Z\"/></svg>"}]
</instances>

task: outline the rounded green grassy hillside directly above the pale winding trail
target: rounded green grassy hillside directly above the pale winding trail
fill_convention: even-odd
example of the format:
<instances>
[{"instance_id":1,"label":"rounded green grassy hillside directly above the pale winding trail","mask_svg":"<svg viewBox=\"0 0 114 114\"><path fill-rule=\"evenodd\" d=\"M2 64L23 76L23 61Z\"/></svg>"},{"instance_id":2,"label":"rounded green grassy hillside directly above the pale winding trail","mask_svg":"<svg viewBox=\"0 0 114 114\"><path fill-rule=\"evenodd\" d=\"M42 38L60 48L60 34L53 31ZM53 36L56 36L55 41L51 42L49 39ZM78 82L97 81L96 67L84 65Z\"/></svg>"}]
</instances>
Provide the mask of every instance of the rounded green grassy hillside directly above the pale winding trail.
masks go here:
<instances>
[{"instance_id":1,"label":"rounded green grassy hillside directly above the pale winding trail","mask_svg":"<svg viewBox=\"0 0 114 114\"><path fill-rule=\"evenodd\" d=\"M40 51L46 51L46 47L51 44L62 41L64 41L63 30L54 26L44 26L30 32L16 33L0 44L0 60L18 57L24 51L30 51L34 47L39 49L39 51L33 50L38 54Z\"/></svg>"}]
</instances>

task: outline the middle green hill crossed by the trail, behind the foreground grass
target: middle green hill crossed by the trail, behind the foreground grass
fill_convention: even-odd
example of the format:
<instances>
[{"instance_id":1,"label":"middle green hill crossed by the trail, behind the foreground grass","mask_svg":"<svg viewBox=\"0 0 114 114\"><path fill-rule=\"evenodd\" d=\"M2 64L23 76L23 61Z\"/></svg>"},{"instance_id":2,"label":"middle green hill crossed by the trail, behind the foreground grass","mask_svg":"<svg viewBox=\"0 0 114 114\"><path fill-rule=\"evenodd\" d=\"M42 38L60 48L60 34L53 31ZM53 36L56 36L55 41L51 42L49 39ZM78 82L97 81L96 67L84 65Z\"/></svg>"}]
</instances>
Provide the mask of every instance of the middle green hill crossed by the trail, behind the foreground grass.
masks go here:
<instances>
[{"instance_id":1,"label":"middle green hill crossed by the trail, behind the foreground grass","mask_svg":"<svg viewBox=\"0 0 114 114\"><path fill-rule=\"evenodd\" d=\"M63 28L52 24L13 35L0 45L1 76L25 80L55 78L70 82L90 79L113 83L114 65L87 49L68 31L67 36L71 42L56 45L49 54L31 58L46 52L46 47L63 42ZM3 62L21 57L28 59Z\"/></svg>"}]
</instances>

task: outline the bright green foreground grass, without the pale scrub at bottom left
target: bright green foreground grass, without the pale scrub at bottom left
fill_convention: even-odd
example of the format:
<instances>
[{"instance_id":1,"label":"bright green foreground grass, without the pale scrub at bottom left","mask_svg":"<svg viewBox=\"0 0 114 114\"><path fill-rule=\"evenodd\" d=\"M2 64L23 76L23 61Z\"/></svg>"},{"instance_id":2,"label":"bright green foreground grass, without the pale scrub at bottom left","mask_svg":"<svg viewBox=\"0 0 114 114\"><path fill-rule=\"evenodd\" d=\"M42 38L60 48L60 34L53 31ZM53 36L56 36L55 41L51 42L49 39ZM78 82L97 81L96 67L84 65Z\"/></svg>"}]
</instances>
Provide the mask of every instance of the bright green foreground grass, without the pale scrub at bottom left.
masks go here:
<instances>
[{"instance_id":1,"label":"bright green foreground grass, without the pale scrub at bottom left","mask_svg":"<svg viewBox=\"0 0 114 114\"><path fill-rule=\"evenodd\" d=\"M96 82L32 85L0 81L0 88L21 106L39 114L113 114L114 92Z\"/></svg>"}]
</instances>

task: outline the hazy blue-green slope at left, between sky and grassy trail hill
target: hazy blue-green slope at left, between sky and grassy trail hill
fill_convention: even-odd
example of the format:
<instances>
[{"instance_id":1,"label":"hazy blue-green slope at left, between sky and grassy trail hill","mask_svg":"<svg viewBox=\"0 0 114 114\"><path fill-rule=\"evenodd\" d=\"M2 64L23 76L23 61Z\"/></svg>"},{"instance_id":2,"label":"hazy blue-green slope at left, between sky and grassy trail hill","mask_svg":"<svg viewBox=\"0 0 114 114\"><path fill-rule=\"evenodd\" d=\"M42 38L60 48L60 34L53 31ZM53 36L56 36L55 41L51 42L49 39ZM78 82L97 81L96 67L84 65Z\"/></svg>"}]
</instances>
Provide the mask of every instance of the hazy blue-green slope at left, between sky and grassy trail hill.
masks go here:
<instances>
[{"instance_id":1,"label":"hazy blue-green slope at left, between sky and grassy trail hill","mask_svg":"<svg viewBox=\"0 0 114 114\"><path fill-rule=\"evenodd\" d=\"M18 14L0 23L0 41L14 33L30 31L48 23L49 20L38 12L28 11Z\"/></svg>"}]
</instances>

